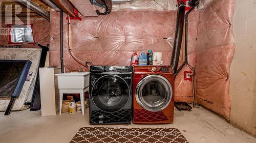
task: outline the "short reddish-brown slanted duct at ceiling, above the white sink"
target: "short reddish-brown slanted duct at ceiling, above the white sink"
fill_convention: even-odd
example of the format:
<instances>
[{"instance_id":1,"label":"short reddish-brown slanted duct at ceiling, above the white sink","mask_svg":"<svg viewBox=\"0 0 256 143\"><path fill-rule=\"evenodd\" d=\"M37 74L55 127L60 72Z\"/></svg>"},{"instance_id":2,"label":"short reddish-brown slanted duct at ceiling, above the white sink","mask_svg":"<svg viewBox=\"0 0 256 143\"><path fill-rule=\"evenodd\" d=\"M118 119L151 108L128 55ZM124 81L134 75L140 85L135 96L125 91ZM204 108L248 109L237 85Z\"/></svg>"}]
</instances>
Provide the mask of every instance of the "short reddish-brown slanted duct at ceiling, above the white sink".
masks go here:
<instances>
[{"instance_id":1,"label":"short reddish-brown slanted duct at ceiling, above the white sink","mask_svg":"<svg viewBox=\"0 0 256 143\"><path fill-rule=\"evenodd\" d=\"M52 0L63 12L67 13L71 17L76 17L74 14L74 6L69 0Z\"/></svg>"}]
</instances>

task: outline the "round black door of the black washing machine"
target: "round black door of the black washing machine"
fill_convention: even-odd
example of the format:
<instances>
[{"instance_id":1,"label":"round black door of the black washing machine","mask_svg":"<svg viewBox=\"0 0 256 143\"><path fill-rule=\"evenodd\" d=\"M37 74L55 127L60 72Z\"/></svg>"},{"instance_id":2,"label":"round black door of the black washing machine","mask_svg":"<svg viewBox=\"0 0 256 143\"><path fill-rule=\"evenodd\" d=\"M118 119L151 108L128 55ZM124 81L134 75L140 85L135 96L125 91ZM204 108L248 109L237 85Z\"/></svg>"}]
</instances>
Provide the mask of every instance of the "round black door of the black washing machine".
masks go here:
<instances>
[{"instance_id":1,"label":"round black door of the black washing machine","mask_svg":"<svg viewBox=\"0 0 256 143\"><path fill-rule=\"evenodd\" d=\"M121 110L130 99L131 91L127 82L118 75L104 75L95 81L91 98L103 111Z\"/></svg>"}]
</instances>

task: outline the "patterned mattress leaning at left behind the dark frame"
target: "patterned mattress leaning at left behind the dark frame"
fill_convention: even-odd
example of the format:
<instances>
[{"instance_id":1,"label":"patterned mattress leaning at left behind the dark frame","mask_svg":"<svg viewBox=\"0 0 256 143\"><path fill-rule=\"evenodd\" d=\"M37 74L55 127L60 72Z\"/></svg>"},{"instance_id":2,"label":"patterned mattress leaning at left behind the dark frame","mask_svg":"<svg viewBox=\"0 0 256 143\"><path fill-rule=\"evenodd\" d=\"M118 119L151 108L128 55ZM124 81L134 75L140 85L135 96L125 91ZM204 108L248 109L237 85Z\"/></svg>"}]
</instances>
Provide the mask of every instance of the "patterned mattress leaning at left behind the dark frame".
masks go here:
<instances>
[{"instance_id":1,"label":"patterned mattress leaning at left behind the dark frame","mask_svg":"<svg viewBox=\"0 0 256 143\"><path fill-rule=\"evenodd\" d=\"M40 62L41 49L40 48L0 48L0 60L29 60L31 66L27 79L23 85L22 92L16 98L12 110L27 109L29 105L26 102L31 102L33 88L35 84L36 74ZM10 98L0 98L0 110L6 110Z\"/></svg>"}]
</instances>

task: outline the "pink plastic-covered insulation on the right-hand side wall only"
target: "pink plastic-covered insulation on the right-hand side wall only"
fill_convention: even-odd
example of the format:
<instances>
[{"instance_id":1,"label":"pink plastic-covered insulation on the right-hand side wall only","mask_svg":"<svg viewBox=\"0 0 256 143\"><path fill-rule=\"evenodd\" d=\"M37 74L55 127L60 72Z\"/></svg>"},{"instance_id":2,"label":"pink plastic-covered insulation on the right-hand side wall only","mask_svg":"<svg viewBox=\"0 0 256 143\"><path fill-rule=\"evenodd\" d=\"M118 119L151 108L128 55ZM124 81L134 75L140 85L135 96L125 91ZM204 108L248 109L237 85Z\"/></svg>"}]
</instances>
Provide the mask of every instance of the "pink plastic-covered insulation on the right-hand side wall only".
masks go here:
<instances>
[{"instance_id":1,"label":"pink plastic-covered insulation on the right-hand side wall only","mask_svg":"<svg viewBox=\"0 0 256 143\"><path fill-rule=\"evenodd\" d=\"M229 68L235 45L234 0L215 0L200 10L197 40L197 100L229 120Z\"/></svg>"}]
</instances>

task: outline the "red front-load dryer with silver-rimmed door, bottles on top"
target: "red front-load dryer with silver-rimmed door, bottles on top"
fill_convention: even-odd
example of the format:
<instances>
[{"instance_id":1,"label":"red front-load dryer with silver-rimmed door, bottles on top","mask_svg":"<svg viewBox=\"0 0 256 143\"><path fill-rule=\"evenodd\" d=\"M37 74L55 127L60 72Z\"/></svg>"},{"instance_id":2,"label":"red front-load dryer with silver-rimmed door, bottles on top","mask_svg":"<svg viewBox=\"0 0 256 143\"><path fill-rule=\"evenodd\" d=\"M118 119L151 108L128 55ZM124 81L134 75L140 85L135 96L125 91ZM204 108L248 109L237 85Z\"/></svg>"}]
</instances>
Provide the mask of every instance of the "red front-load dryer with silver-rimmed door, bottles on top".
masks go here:
<instances>
[{"instance_id":1,"label":"red front-load dryer with silver-rimmed door, bottles on top","mask_svg":"<svg viewBox=\"0 0 256 143\"><path fill-rule=\"evenodd\" d=\"M172 66L134 66L133 123L172 123L174 73Z\"/></svg>"}]
</instances>

